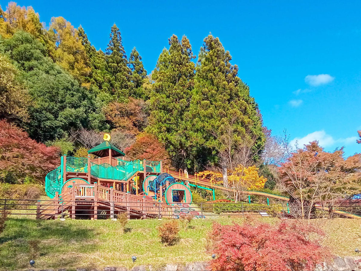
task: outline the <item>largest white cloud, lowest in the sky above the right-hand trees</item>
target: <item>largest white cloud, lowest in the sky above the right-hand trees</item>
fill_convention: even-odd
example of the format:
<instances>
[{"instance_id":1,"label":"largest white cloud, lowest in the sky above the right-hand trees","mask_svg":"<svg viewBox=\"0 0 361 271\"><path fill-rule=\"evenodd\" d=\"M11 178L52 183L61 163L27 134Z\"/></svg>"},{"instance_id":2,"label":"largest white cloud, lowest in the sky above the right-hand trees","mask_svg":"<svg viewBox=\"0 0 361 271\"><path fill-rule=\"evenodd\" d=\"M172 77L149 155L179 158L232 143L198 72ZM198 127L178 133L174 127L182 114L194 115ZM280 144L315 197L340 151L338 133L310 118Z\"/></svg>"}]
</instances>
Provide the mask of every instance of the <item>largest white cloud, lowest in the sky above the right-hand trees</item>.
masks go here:
<instances>
[{"instance_id":1,"label":"largest white cloud, lowest in the sky above the right-hand trees","mask_svg":"<svg viewBox=\"0 0 361 271\"><path fill-rule=\"evenodd\" d=\"M349 145L352 143L356 142L357 137L347 137L347 138L339 138L339 139L334 139L332 136L330 136L329 134L326 134L326 132L324 130L321 131L316 131L313 133L308 134L305 137L299 138L296 137L294 139L292 139L291 146L295 146L296 142L298 147L303 147L303 145L308 144L311 141L315 141L317 140L319 145L321 147L330 147L332 145L335 145L336 143L339 143L340 145Z\"/></svg>"}]
</instances>

